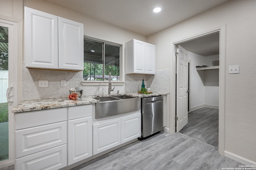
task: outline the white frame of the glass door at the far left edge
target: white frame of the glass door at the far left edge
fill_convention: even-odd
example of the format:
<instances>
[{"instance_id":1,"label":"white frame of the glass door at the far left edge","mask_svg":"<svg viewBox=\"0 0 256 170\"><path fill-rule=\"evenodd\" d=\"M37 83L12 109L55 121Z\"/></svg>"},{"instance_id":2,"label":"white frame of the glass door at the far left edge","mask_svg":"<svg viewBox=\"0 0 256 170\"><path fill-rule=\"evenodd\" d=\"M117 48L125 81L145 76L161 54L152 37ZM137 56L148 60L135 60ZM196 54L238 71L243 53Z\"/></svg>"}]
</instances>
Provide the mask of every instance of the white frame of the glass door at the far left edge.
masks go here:
<instances>
[{"instance_id":1,"label":"white frame of the glass door at the far left edge","mask_svg":"<svg viewBox=\"0 0 256 170\"><path fill-rule=\"evenodd\" d=\"M13 102L8 102L9 158L0 161L0 168L14 164L14 114L12 108L18 104L18 23L0 19L1 26L8 27L8 87L13 86Z\"/></svg>"}]
</instances>

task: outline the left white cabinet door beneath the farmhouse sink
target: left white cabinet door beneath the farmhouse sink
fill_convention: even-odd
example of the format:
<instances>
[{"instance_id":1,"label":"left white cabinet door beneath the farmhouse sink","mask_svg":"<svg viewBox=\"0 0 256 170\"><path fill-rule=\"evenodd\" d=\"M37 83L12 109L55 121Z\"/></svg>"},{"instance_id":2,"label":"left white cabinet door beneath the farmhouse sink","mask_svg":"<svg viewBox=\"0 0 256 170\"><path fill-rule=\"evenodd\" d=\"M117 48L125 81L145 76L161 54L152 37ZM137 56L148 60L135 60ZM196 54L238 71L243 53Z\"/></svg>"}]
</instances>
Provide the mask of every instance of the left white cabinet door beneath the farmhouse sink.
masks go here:
<instances>
[{"instance_id":1,"label":"left white cabinet door beneath the farmhouse sink","mask_svg":"<svg viewBox=\"0 0 256 170\"><path fill-rule=\"evenodd\" d=\"M115 119L93 125L94 155L121 144L120 123L120 119Z\"/></svg>"}]
</instances>

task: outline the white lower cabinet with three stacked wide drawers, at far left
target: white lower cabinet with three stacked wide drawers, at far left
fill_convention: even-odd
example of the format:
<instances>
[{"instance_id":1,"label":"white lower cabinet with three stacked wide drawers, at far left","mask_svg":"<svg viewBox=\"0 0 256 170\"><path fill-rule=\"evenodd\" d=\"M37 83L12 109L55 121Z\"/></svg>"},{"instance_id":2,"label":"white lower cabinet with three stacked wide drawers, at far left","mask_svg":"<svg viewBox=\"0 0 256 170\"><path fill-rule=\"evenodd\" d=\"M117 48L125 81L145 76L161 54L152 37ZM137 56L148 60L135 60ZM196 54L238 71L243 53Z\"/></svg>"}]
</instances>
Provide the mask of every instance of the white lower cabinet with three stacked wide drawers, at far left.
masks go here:
<instances>
[{"instance_id":1,"label":"white lower cabinet with three stacked wide drawers, at far left","mask_svg":"<svg viewBox=\"0 0 256 170\"><path fill-rule=\"evenodd\" d=\"M67 166L67 109L16 113L15 170Z\"/></svg>"}]
</instances>

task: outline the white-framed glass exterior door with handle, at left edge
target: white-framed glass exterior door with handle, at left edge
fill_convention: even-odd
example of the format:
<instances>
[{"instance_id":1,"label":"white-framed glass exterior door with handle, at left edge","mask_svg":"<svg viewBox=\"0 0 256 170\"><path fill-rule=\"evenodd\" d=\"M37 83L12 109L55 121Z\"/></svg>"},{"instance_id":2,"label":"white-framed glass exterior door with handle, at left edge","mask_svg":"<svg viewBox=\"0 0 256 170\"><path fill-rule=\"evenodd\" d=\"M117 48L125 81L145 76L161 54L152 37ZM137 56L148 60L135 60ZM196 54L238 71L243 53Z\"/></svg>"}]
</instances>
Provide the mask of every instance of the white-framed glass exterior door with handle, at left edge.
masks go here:
<instances>
[{"instance_id":1,"label":"white-framed glass exterior door with handle, at left edge","mask_svg":"<svg viewBox=\"0 0 256 170\"><path fill-rule=\"evenodd\" d=\"M0 168L14 164L12 108L17 105L17 30L16 23L0 19Z\"/></svg>"}]
</instances>

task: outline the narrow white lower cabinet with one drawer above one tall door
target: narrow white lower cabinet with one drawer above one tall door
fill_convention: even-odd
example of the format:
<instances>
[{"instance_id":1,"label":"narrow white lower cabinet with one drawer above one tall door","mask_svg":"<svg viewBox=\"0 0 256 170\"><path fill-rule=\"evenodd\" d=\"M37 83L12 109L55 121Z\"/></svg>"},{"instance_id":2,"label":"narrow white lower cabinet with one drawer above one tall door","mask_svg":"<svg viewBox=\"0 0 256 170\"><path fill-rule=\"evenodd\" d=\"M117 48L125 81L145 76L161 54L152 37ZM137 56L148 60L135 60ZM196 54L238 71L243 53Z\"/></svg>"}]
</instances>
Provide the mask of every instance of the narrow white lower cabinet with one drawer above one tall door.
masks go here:
<instances>
[{"instance_id":1,"label":"narrow white lower cabinet with one drawer above one tall door","mask_svg":"<svg viewBox=\"0 0 256 170\"><path fill-rule=\"evenodd\" d=\"M92 156L92 105L68 107L68 165Z\"/></svg>"}]
</instances>

